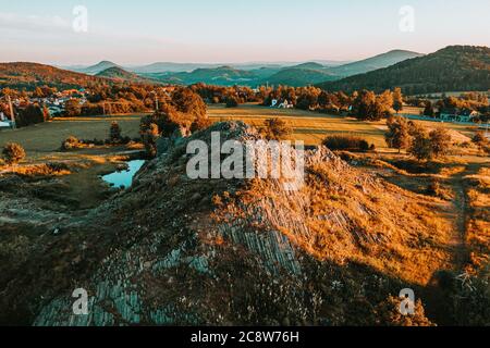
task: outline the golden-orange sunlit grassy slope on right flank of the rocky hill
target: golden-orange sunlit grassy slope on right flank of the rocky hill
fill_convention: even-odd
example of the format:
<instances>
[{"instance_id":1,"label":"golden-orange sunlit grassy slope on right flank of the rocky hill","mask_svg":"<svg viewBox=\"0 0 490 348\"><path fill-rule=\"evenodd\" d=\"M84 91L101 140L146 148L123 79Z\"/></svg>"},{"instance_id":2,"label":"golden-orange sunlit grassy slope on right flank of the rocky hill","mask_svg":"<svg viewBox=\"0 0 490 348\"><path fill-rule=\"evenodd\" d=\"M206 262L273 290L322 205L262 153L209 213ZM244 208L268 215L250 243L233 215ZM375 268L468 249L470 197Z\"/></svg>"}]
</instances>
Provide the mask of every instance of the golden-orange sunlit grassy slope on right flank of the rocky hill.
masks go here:
<instances>
[{"instance_id":1,"label":"golden-orange sunlit grassy slope on right flank of the rocky hill","mask_svg":"<svg viewBox=\"0 0 490 348\"><path fill-rule=\"evenodd\" d=\"M298 192L253 182L223 215L241 220L260 210L274 231L318 260L357 262L414 284L427 285L434 272L452 268L450 203L341 162L318 163L307 173L307 185Z\"/></svg>"}]
</instances>

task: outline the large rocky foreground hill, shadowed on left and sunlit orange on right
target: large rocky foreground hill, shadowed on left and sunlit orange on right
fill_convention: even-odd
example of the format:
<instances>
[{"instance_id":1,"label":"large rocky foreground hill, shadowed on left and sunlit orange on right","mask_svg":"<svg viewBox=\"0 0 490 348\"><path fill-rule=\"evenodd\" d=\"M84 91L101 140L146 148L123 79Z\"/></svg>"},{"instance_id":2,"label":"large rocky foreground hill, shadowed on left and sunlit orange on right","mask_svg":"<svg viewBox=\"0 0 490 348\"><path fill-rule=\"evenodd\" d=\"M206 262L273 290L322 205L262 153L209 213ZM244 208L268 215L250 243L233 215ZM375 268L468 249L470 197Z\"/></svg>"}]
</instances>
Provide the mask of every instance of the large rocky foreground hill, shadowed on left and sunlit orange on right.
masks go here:
<instances>
[{"instance_id":1,"label":"large rocky foreground hill, shadowed on left and sunlit orange on right","mask_svg":"<svg viewBox=\"0 0 490 348\"><path fill-rule=\"evenodd\" d=\"M83 214L56 219L21 198L22 185L7 192L2 240L17 251L1 265L0 322L30 311L36 325L372 325L390 294L446 266L450 224L436 200L420 204L326 148L306 154L298 191L284 179L189 179L187 142L210 144L212 132L244 147L259 138L241 122L216 124ZM42 219L37 243L11 233L26 209L29 223ZM90 294L88 316L73 315L75 286Z\"/></svg>"}]
</instances>

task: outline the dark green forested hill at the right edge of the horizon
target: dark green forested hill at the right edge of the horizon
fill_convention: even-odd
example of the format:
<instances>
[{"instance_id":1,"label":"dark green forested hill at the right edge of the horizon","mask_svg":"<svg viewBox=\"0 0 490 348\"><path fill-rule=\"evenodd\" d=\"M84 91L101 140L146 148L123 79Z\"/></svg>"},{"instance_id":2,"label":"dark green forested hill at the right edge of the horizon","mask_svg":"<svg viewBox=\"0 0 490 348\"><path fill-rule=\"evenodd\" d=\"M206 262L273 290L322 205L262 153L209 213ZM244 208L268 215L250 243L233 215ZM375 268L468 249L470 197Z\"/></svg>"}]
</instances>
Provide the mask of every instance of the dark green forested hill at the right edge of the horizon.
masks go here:
<instances>
[{"instance_id":1,"label":"dark green forested hill at the right edge of the horizon","mask_svg":"<svg viewBox=\"0 0 490 348\"><path fill-rule=\"evenodd\" d=\"M450 46L367 74L319 84L327 90L353 91L402 87L407 95L490 89L490 49Z\"/></svg>"}]
</instances>

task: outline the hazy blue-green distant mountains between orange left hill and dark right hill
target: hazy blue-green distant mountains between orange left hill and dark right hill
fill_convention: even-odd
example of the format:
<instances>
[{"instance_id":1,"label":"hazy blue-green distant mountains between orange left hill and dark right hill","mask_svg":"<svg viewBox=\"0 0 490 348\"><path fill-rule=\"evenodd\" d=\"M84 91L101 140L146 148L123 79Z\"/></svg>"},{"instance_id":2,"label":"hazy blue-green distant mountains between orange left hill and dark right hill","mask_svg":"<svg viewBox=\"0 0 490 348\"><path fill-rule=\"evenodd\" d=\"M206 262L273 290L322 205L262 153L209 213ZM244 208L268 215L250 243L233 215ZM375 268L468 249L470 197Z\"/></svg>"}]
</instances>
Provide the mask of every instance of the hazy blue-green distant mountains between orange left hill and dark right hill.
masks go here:
<instances>
[{"instance_id":1,"label":"hazy blue-green distant mountains between orange left hill and dark right hill","mask_svg":"<svg viewBox=\"0 0 490 348\"><path fill-rule=\"evenodd\" d=\"M122 67L113 62L102 61L87 67L69 67L76 72L97 75L110 67L123 69L142 78L164 84L191 85L205 83L222 86L289 85L294 87L338 80L346 76L367 73L399 63L420 53L394 50L364 61L347 63L335 61L311 61L306 63L247 63L247 64L186 64L154 63L145 66Z\"/></svg>"}]
</instances>

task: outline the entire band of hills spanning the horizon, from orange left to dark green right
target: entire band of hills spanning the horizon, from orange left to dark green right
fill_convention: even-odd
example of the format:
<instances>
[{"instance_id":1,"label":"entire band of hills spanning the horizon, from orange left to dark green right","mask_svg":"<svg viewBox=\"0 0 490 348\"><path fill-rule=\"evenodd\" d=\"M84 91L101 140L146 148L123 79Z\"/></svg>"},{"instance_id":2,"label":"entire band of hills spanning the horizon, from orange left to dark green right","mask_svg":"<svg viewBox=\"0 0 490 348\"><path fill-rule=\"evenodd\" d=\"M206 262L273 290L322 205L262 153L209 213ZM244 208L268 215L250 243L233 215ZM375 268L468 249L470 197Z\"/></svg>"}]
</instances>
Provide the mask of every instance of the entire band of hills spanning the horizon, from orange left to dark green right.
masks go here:
<instances>
[{"instance_id":1,"label":"entire band of hills spanning the horizon, from orange left to dark green right","mask_svg":"<svg viewBox=\"0 0 490 348\"><path fill-rule=\"evenodd\" d=\"M161 66L157 65L154 67ZM188 67L188 65L185 66ZM179 66L173 65L173 67ZM250 87L266 84L296 87L316 85L330 91L347 92L359 89L382 91L402 87L407 95L490 90L490 49L471 46L452 46L428 55L395 50L339 66L328 66L319 62L287 66L252 64L247 65L247 69L219 65L198 67L188 72L138 74L113 62L103 61L94 66L77 67L77 70L79 72L36 63L0 63L0 88L33 90L36 86L42 85L77 88L94 83L130 82L179 85L205 83ZM351 74L355 75L351 76Z\"/></svg>"}]
</instances>

